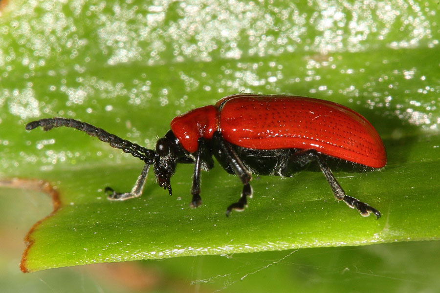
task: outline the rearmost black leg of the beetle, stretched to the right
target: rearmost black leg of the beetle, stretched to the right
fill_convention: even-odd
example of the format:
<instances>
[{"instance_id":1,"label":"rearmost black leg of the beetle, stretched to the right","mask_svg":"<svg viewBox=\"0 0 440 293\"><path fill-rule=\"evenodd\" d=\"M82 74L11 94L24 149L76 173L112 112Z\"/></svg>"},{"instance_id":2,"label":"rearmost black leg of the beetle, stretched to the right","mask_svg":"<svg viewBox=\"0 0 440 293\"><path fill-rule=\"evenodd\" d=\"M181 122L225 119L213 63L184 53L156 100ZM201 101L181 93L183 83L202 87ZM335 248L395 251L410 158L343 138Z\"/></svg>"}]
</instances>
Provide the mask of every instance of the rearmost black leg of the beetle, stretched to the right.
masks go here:
<instances>
[{"instance_id":1,"label":"rearmost black leg of the beetle, stretched to the right","mask_svg":"<svg viewBox=\"0 0 440 293\"><path fill-rule=\"evenodd\" d=\"M292 156L289 158L286 166L281 170L281 175L288 176L291 173L289 170L290 168L298 167L298 165L300 167L305 167L311 161L316 161L318 163L321 171L323 172L324 176L326 176L326 179L330 184L330 188L333 191L334 197L337 200L344 201L352 209L356 208L359 213L364 217L369 216L370 213L374 213L377 219L380 217L380 212L377 209L374 209L372 206L345 194L344 190L337 182L330 168L327 166L321 155L315 149L305 149L293 153Z\"/></svg>"}]
</instances>

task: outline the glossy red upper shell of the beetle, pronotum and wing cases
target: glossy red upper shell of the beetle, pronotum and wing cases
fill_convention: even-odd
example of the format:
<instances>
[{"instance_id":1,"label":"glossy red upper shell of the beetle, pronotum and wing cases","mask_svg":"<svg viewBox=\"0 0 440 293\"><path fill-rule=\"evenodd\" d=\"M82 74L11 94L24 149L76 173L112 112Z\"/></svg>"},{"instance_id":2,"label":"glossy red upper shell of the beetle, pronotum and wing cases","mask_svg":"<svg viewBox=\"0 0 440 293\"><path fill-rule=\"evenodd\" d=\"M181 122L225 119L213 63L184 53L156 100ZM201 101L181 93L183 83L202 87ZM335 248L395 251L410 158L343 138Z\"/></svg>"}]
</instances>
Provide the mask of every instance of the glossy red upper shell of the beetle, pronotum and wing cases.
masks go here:
<instances>
[{"instance_id":1,"label":"glossy red upper shell of the beetle, pronotum and wing cases","mask_svg":"<svg viewBox=\"0 0 440 293\"><path fill-rule=\"evenodd\" d=\"M215 130L231 144L253 149L313 148L368 167L387 163L374 127L360 114L329 101L295 96L233 95L171 121L183 148L197 150Z\"/></svg>"}]
</instances>

